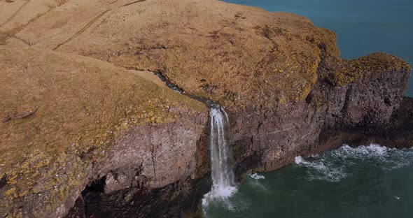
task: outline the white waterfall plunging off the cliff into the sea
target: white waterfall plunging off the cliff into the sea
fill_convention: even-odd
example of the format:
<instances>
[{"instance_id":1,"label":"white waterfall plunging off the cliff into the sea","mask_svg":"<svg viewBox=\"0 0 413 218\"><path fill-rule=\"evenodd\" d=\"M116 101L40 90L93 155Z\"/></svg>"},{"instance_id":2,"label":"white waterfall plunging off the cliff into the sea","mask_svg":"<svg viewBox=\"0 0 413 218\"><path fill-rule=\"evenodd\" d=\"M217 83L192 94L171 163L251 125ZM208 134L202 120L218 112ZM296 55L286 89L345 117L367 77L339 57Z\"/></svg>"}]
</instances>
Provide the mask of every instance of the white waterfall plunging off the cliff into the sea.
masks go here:
<instances>
[{"instance_id":1,"label":"white waterfall plunging off the cliff into the sea","mask_svg":"<svg viewBox=\"0 0 413 218\"><path fill-rule=\"evenodd\" d=\"M228 129L228 115L219 106L212 106L209 112L211 150L212 189L204 196L202 204L207 205L211 199L225 199L231 196L237 187L234 182L234 172L230 165L230 146L226 130Z\"/></svg>"}]
</instances>

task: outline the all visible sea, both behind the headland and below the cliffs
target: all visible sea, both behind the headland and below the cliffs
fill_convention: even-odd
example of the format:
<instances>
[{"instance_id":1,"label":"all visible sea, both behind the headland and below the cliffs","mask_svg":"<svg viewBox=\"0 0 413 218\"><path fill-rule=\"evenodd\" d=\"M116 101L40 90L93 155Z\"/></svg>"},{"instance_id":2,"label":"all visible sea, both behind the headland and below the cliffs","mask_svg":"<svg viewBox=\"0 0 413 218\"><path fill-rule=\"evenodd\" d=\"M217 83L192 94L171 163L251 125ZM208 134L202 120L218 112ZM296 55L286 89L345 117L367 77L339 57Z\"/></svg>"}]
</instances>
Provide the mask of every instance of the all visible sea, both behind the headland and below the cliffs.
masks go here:
<instances>
[{"instance_id":1,"label":"all visible sea, both behind the headland and below the cliffs","mask_svg":"<svg viewBox=\"0 0 413 218\"><path fill-rule=\"evenodd\" d=\"M412 0L227 0L309 17L337 32L346 59L386 52L413 66ZM407 96L413 97L413 76ZM411 218L413 149L349 147L269 173L253 173L230 198L204 206L209 218Z\"/></svg>"}]
</instances>

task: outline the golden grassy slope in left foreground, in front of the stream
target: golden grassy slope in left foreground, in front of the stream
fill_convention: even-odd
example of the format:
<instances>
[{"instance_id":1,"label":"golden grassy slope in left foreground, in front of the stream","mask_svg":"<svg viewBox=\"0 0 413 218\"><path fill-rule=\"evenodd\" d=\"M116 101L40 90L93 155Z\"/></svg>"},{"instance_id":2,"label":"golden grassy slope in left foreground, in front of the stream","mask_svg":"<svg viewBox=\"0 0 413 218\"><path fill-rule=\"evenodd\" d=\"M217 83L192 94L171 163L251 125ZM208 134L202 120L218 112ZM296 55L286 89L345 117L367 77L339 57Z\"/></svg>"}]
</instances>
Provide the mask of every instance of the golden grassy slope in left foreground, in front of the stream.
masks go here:
<instances>
[{"instance_id":1,"label":"golden grassy slope in left foreground, in front of the stream","mask_svg":"<svg viewBox=\"0 0 413 218\"><path fill-rule=\"evenodd\" d=\"M58 208L132 126L207 110L103 61L8 46L0 47L0 96L2 215L30 203L34 215Z\"/></svg>"}]
</instances>

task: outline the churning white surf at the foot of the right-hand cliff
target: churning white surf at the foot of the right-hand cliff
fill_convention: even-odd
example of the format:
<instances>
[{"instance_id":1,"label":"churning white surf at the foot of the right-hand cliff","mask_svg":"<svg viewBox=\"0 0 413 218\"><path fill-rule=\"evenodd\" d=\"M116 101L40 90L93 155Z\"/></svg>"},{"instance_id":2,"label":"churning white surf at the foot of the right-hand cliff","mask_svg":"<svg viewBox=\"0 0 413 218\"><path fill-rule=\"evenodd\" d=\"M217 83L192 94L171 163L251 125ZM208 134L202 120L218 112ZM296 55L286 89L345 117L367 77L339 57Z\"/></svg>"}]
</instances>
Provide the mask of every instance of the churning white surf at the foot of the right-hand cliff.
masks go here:
<instances>
[{"instance_id":1,"label":"churning white surf at the foot of the right-hand cliff","mask_svg":"<svg viewBox=\"0 0 413 218\"><path fill-rule=\"evenodd\" d=\"M312 155L307 158L295 157L295 164L307 168L308 180L339 182L351 174L350 166L355 164L380 164L381 168L392 170L409 165L413 150L397 150L377 144L350 147L343 145L337 150Z\"/></svg>"}]
</instances>

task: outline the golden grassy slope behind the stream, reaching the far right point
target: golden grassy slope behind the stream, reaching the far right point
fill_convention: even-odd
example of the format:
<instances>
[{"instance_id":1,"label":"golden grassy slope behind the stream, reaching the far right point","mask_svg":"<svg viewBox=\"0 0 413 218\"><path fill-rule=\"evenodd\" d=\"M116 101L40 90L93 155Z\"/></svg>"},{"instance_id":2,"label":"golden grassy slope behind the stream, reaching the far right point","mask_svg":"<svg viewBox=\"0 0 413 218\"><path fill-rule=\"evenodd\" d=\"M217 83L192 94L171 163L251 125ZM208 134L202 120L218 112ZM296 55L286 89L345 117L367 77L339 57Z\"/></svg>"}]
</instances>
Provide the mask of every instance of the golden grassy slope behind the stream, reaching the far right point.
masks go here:
<instances>
[{"instance_id":1,"label":"golden grassy slope behind the stream, reaching the far right point","mask_svg":"<svg viewBox=\"0 0 413 218\"><path fill-rule=\"evenodd\" d=\"M334 85L408 67L387 55L343 61L335 33L305 17L222 1L69 1L15 36L38 48L160 71L186 92L232 110L304 100L325 57L338 68L329 76Z\"/></svg>"}]
</instances>

